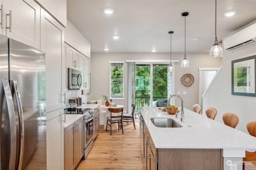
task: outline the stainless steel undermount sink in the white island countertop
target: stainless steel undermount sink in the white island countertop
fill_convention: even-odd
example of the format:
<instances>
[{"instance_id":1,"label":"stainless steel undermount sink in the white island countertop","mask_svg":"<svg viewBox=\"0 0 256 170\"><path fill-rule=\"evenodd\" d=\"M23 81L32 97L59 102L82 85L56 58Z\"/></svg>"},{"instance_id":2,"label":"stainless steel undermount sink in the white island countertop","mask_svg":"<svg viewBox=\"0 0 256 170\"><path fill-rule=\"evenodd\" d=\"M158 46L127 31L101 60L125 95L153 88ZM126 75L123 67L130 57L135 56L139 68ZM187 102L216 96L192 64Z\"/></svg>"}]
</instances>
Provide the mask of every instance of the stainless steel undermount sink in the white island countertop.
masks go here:
<instances>
[{"instance_id":1,"label":"stainless steel undermount sink in the white island countertop","mask_svg":"<svg viewBox=\"0 0 256 170\"><path fill-rule=\"evenodd\" d=\"M178 122L174 121L174 119L170 119L170 118L150 118L150 120L155 125L155 127L164 127L164 128L183 127Z\"/></svg>"}]
</instances>

